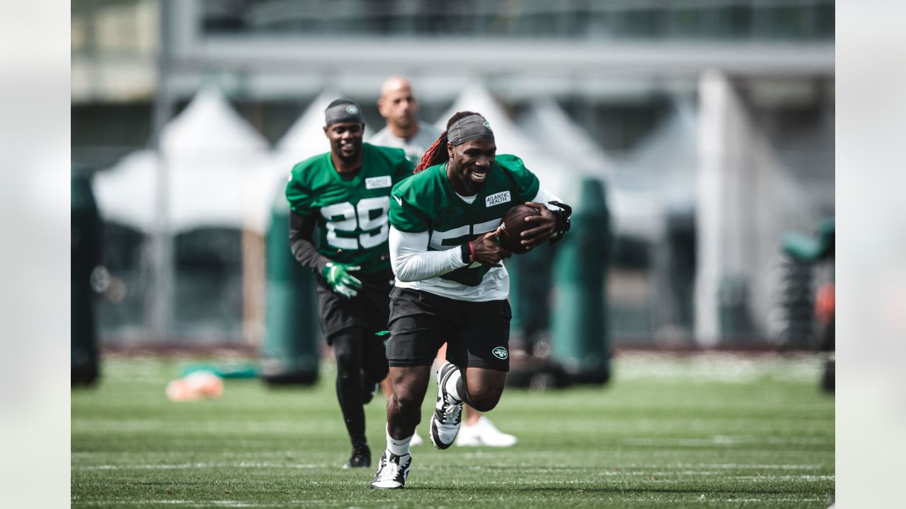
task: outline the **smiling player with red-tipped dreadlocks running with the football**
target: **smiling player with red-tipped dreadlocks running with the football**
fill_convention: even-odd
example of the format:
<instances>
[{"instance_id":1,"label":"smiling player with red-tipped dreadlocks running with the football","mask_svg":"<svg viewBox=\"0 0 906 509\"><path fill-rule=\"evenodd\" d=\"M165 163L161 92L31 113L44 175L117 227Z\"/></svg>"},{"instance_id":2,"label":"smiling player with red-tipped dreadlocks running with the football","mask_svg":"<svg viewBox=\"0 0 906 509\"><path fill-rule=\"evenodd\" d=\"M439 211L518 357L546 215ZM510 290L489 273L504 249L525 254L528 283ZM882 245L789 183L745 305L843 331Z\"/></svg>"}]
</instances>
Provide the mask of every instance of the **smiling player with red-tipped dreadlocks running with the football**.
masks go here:
<instances>
[{"instance_id":1,"label":"smiling player with red-tipped dreadlocks running with the football","mask_svg":"<svg viewBox=\"0 0 906 509\"><path fill-rule=\"evenodd\" d=\"M460 111L429 148L416 175L393 187L387 358L393 392L387 401L387 450L372 488L405 486L410 440L431 364L442 344L447 360L438 371L438 399L430 419L431 443L456 439L462 407L496 407L509 370L509 280L497 242L506 211L526 203L538 212L522 234L531 249L559 239L569 228L568 208L540 187L522 159L496 154L487 120ZM561 204L562 205L562 204Z\"/></svg>"}]
</instances>

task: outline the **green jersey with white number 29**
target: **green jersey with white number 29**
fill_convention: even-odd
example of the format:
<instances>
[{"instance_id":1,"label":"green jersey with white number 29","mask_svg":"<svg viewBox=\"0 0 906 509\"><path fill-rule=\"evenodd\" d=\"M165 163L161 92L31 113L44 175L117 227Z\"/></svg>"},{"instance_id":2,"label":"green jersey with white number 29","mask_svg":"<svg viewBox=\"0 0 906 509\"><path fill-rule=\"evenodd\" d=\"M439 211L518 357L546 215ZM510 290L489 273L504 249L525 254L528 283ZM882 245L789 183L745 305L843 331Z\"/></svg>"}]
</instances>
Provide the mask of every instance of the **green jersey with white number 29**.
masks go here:
<instances>
[{"instance_id":1,"label":"green jersey with white number 29","mask_svg":"<svg viewBox=\"0 0 906 509\"><path fill-rule=\"evenodd\" d=\"M296 214L317 216L322 255L371 274L390 268L390 190L412 175L414 166L401 149L362 143L362 151L361 169L350 179L333 168L330 152L295 165L286 199Z\"/></svg>"}]
</instances>

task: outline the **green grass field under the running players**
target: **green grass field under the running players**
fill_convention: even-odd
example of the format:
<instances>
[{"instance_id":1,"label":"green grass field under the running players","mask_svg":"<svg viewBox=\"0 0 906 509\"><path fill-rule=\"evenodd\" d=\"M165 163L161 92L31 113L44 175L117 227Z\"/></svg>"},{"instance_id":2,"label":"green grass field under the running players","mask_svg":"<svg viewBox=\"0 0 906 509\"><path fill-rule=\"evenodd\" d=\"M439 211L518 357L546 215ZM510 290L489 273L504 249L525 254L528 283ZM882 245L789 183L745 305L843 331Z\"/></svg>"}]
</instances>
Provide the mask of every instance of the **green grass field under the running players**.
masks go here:
<instances>
[{"instance_id":1,"label":"green grass field under the running players","mask_svg":"<svg viewBox=\"0 0 906 509\"><path fill-rule=\"evenodd\" d=\"M834 398L816 356L625 353L604 387L506 389L516 447L413 447L401 491L340 466L333 367L310 388L227 379L164 396L188 360L105 359L72 391L72 507L815 507L834 494ZM433 390L423 405L427 415ZM384 399L367 407L375 462ZM426 437L427 418L419 426Z\"/></svg>"}]
</instances>

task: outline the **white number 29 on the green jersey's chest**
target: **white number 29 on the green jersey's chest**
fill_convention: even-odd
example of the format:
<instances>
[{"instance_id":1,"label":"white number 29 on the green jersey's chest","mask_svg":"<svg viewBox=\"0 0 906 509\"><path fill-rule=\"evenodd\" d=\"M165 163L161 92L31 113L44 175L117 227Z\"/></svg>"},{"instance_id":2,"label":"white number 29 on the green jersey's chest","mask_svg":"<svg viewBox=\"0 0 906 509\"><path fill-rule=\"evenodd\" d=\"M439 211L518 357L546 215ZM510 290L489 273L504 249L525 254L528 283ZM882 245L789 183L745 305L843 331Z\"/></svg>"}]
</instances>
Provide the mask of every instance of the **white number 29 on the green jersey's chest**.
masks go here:
<instances>
[{"instance_id":1,"label":"white number 29 on the green jersey's chest","mask_svg":"<svg viewBox=\"0 0 906 509\"><path fill-rule=\"evenodd\" d=\"M369 249L383 244L390 233L388 210L389 197L365 198L356 206L348 201L324 206L321 215L327 225L327 244L349 250ZM358 237L337 235L337 232L351 234L356 230L362 232Z\"/></svg>"}]
</instances>

